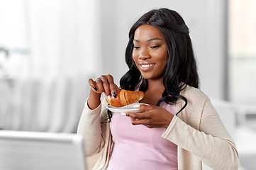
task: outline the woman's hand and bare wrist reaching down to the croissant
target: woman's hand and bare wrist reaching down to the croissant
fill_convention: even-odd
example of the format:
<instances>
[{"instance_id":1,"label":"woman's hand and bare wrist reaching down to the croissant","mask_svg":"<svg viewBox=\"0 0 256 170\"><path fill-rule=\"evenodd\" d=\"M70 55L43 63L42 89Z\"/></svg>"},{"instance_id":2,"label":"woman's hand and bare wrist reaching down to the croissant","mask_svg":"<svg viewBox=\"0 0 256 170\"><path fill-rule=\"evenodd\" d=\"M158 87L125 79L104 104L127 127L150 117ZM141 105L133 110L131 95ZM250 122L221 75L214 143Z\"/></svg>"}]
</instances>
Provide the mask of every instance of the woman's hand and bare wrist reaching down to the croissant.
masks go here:
<instances>
[{"instance_id":1,"label":"woman's hand and bare wrist reaching down to the croissant","mask_svg":"<svg viewBox=\"0 0 256 170\"><path fill-rule=\"evenodd\" d=\"M116 91L118 86L113 81L113 77L108 75L102 75L95 81L89 79L89 85L91 86L90 96L88 100L88 106L91 109L97 108L99 106L101 94L111 98L116 97Z\"/></svg>"}]
</instances>

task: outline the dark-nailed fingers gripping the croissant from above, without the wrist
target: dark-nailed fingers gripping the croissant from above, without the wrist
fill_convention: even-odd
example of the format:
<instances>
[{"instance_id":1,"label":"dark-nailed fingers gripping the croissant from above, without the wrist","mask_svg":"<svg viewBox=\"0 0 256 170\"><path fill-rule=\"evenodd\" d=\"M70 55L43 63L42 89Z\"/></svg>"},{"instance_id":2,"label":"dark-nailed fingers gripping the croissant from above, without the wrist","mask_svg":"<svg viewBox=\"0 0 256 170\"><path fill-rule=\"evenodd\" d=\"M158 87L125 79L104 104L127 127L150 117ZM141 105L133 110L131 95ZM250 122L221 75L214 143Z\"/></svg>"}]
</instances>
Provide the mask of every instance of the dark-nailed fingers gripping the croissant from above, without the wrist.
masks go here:
<instances>
[{"instance_id":1,"label":"dark-nailed fingers gripping the croissant from above, without the wrist","mask_svg":"<svg viewBox=\"0 0 256 170\"><path fill-rule=\"evenodd\" d=\"M118 86L113 81L113 77L108 75L103 75L97 78L95 81L89 79L89 85L92 90L97 94L104 94L106 96L111 96L116 93Z\"/></svg>"}]
</instances>

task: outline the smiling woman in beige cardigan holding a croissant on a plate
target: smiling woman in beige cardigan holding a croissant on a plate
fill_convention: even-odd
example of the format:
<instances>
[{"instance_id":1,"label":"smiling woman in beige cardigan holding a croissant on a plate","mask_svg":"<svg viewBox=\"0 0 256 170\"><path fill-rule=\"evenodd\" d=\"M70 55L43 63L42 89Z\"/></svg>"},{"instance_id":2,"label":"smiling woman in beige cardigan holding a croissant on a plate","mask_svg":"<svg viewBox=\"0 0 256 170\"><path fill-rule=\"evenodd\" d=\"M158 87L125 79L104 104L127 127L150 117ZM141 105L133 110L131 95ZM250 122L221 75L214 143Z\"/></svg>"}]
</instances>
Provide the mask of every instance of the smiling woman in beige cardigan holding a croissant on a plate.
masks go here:
<instances>
[{"instance_id":1,"label":"smiling woman in beige cardigan holding a croissant on a plate","mask_svg":"<svg viewBox=\"0 0 256 170\"><path fill-rule=\"evenodd\" d=\"M87 156L103 152L94 169L238 169L235 144L199 77L189 30L175 11L145 13L132 26L126 48L128 72L121 89L143 91L126 116L107 111L101 94L116 97L111 75L89 79L91 91L79 121Z\"/></svg>"}]
</instances>

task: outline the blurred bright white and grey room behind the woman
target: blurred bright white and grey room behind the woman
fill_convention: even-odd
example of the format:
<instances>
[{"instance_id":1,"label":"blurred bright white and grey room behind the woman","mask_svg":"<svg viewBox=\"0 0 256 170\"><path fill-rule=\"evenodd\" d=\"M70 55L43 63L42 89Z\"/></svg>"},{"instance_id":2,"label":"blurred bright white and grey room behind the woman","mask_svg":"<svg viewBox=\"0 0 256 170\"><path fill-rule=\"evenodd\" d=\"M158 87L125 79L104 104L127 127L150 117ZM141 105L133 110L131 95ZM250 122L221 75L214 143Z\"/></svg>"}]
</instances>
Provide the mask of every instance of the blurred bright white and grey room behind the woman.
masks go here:
<instances>
[{"instance_id":1,"label":"blurred bright white and grey room behind the woman","mask_svg":"<svg viewBox=\"0 0 256 170\"><path fill-rule=\"evenodd\" d=\"M0 129L76 132L88 79L128 70L128 31L152 8L187 23L200 89L256 163L256 1L0 0Z\"/></svg>"}]
</instances>

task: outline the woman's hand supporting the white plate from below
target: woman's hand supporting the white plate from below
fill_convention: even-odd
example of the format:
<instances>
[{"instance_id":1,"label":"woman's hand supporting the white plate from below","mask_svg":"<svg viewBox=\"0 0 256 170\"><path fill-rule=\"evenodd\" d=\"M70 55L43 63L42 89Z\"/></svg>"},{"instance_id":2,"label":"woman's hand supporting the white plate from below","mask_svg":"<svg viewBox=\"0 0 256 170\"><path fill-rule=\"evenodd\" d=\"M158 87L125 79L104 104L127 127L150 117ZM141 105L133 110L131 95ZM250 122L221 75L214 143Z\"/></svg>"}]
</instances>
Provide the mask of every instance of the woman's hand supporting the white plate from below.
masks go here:
<instances>
[{"instance_id":1,"label":"woman's hand supporting the white plate from below","mask_svg":"<svg viewBox=\"0 0 256 170\"><path fill-rule=\"evenodd\" d=\"M140 105L137 107L144 110L143 113L126 112L126 115L131 118L133 125L145 125L148 128L167 128L171 123L174 115L169 113L165 108L158 106Z\"/></svg>"}]
</instances>

